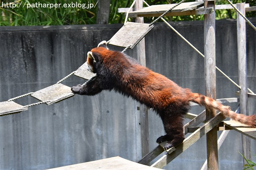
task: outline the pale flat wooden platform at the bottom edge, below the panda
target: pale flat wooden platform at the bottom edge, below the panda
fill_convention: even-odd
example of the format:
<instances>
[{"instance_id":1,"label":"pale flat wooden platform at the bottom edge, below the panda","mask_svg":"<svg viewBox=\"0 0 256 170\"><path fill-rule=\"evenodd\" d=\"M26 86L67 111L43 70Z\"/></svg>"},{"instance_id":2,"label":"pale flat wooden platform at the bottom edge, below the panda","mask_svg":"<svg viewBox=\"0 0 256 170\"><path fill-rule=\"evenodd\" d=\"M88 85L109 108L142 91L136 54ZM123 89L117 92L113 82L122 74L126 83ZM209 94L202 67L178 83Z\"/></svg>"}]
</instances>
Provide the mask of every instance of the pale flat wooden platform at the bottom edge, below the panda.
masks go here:
<instances>
[{"instance_id":1,"label":"pale flat wooden platform at the bottom edge, below the panda","mask_svg":"<svg viewBox=\"0 0 256 170\"><path fill-rule=\"evenodd\" d=\"M50 170L159 170L150 166L142 165L119 156L53 168Z\"/></svg>"}]
</instances>

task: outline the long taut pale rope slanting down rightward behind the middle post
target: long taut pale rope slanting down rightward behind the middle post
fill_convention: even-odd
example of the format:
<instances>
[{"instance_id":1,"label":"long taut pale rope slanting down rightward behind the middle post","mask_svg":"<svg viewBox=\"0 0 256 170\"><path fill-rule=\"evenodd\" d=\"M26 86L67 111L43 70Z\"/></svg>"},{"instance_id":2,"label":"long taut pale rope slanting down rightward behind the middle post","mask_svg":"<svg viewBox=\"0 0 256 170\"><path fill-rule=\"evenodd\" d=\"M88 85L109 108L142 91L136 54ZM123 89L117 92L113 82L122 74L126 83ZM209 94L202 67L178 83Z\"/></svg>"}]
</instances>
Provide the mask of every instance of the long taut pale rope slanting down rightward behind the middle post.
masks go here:
<instances>
[{"instance_id":1,"label":"long taut pale rope slanting down rightward behind the middle post","mask_svg":"<svg viewBox=\"0 0 256 170\"><path fill-rule=\"evenodd\" d=\"M147 5L150 6L145 0L143 0L143 2ZM192 45L185 37L183 37L174 27L172 27L172 25L170 25L170 23L168 23L166 20L164 20L164 18L161 18L162 21L164 21L176 34L178 34L178 36L180 36L186 43L188 43L188 45L190 45L190 47L192 47L196 52L198 52L202 57L204 57L204 55L196 48L194 47L194 45ZM218 68L216 66L216 69L223 74L226 78L228 78L228 80L230 80L235 86L237 86L239 89L241 89L241 86L239 86L236 82L234 82L228 75L226 75L222 70L220 70L220 68ZM252 94L254 94L252 92L252 90L250 90L248 88L248 91Z\"/></svg>"}]
</instances>

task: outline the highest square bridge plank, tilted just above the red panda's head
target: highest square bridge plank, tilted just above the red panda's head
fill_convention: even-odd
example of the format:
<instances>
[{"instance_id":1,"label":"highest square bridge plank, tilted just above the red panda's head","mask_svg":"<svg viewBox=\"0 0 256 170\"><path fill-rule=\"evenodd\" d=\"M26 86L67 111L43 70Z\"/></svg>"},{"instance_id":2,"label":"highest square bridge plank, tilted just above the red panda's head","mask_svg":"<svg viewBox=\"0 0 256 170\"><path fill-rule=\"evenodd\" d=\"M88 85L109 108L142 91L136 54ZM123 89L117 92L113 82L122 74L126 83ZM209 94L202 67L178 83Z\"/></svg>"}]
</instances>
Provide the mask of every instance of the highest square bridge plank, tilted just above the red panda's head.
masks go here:
<instances>
[{"instance_id":1,"label":"highest square bridge plank, tilted just above the red panda's head","mask_svg":"<svg viewBox=\"0 0 256 170\"><path fill-rule=\"evenodd\" d=\"M109 44L132 49L154 27L148 23L127 22L110 39Z\"/></svg>"}]
</instances>

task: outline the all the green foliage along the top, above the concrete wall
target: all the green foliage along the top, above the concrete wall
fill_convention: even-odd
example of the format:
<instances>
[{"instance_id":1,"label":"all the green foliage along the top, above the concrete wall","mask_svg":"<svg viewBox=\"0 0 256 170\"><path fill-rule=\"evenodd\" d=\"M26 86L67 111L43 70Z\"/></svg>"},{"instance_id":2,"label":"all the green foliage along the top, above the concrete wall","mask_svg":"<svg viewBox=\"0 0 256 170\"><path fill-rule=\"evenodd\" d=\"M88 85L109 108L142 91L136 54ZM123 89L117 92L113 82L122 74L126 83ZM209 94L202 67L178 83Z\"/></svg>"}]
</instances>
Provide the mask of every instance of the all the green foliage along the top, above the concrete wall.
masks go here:
<instances>
[{"instance_id":1,"label":"all the green foliage along the top, above the concrete wall","mask_svg":"<svg viewBox=\"0 0 256 170\"><path fill-rule=\"evenodd\" d=\"M186 2L193 2L195 0L186 0ZM250 6L256 6L256 0L231 0L232 3L236 4L239 2L250 3ZM42 8L42 6L34 6L31 4L36 3L43 4L62 4L60 8L50 7ZM64 8L63 4L86 4L86 8L81 6L70 6ZM104 1L102 1L104 2ZM118 8L128 8L131 6L133 0L111 0L110 3L110 14L109 23L123 23L125 16L123 13L118 13ZM170 4L178 3L180 0L146 0L149 5L156 4ZM16 4L15 8L6 4ZM97 3L98 0L0 0L0 26L1 25L79 25L79 24L94 24L96 23L97 16ZM94 7L89 7L92 4ZM228 4L226 0L216 1L216 4ZM144 5L146 7L146 5ZM247 17L256 17L256 12L247 12ZM174 16L164 17L167 21L192 21L192 20L203 20L203 15L197 16ZM216 20L224 18L236 18L235 10L217 10ZM129 18L130 21L134 20ZM151 22L154 18L144 18L145 22Z\"/></svg>"}]
</instances>

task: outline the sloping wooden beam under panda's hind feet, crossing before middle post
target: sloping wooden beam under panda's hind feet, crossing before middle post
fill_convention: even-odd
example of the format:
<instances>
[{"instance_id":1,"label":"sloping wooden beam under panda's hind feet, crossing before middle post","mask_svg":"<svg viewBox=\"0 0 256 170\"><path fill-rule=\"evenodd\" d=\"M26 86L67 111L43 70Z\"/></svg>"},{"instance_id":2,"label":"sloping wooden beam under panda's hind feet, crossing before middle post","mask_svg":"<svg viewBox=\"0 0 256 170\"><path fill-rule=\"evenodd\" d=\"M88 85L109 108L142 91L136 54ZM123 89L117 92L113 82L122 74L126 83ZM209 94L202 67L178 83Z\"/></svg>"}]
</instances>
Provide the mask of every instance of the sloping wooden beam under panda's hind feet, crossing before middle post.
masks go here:
<instances>
[{"instance_id":1,"label":"sloping wooden beam under panda's hind feet, crossing before middle post","mask_svg":"<svg viewBox=\"0 0 256 170\"><path fill-rule=\"evenodd\" d=\"M222 120L224 120L225 117L222 114L217 114L214 118L210 119L208 122L206 122L202 127L197 129L194 133L189 135L182 144L178 145L176 150L172 152L171 154L165 154L160 158L158 161L156 161L154 164L152 164L152 167L155 168L163 168L166 166L169 162L174 160L178 155L180 155L182 152L184 152L186 149L188 149L191 145L196 143L201 137L203 137L206 133L208 133L212 128L216 127Z\"/></svg>"}]
</instances>

